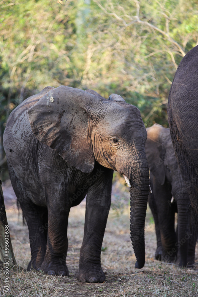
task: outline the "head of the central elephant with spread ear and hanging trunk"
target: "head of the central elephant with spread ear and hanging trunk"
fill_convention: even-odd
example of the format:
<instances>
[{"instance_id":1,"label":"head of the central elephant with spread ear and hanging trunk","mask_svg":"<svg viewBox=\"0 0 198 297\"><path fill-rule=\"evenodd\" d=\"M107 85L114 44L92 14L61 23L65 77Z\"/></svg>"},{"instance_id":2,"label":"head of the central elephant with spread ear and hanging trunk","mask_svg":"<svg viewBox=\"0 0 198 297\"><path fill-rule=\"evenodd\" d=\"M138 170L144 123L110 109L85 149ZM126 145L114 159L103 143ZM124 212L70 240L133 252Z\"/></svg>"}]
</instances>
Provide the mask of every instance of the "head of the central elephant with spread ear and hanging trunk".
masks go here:
<instances>
[{"instance_id":1,"label":"head of the central elephant with spread ear and hanging trunk","mask_svg":"<svg viewBox=\"0 0 198 297\"><path fill-rule=\"evenodd\" d=\"M38 140L70 165L89 173L98 162L128 178L131 239L136 267L142 268L149 191L147 133L140 111L121 98L112 94L107 100L92 90L60 86L47 92L28 113Z\"/></svg>"}]
</instances>

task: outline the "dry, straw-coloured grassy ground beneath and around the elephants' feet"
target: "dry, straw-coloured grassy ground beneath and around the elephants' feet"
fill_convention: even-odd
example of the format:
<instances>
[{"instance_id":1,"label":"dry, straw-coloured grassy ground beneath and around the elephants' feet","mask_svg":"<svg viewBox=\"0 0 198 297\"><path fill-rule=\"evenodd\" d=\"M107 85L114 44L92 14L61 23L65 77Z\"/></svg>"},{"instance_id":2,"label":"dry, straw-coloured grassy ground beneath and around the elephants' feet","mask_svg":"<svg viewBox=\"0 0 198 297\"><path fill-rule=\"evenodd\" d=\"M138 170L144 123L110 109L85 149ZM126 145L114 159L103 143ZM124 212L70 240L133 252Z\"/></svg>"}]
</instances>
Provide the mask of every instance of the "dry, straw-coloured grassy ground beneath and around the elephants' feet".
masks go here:
<instances>
[{"instance_id":1,"label":"dry, straw-coloured grassy ground beneath and around the elephants' feet","mask_svg":"<svg viewBox=\"0 0 198 297\"><path fill-rule=\"evenodd\" d=\"M117 178L118 179L118 178ZM136 262L129 232L129 190L115 178L113 201L103 241L102 268L106 272L103 284L87 284L76 280L79 252L83 240L85 202L72 208L69 216L67 267L69 277L47 276L37 271L26 271L30 260L28 229L13 201L9 182L4 184L4 198L12 246L22 271L9 271L9 293L3 292L4 273L0 274L0 296L198 296L198 266L178 268L154 260L156 236L150 209L145 224L146 262L135 269ZM196 250L196 262L198 250Z\"/></svg>"}]
</instances>

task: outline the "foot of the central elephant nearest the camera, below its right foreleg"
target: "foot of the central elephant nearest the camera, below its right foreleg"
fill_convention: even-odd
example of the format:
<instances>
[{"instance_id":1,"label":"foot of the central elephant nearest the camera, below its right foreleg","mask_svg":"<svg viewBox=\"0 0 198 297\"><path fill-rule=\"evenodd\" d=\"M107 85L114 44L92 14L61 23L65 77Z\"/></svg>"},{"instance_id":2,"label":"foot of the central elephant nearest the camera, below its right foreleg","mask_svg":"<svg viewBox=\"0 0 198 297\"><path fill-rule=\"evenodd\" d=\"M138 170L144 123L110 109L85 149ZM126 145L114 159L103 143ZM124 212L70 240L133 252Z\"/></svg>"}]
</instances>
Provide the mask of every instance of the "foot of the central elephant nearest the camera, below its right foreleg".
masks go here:
<instances>
[{"instance_id":1,"label":"foot of the central elephant nearest the camera, below its right foreleg","mask_svg":"<svg viewBox=\"0 0 198 297\"><path fill-rule=\"evenodd\" d=\"M106 277L102 268L99 270L92 270L92 271L84 271L79 270L77 274L77 279L80 282L104 282Z\"/></svg>"}]
</instances>

